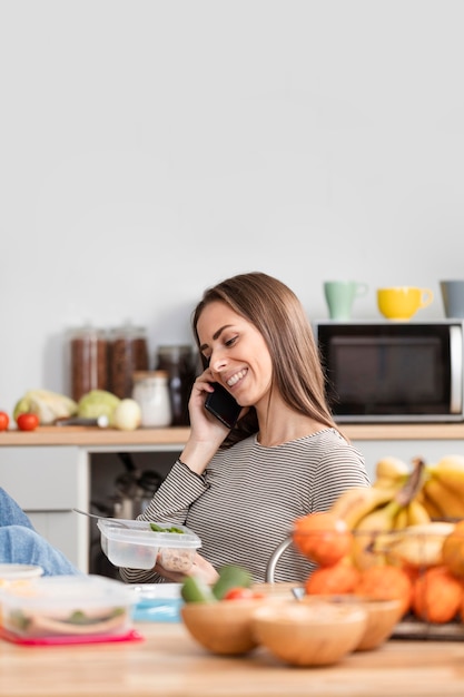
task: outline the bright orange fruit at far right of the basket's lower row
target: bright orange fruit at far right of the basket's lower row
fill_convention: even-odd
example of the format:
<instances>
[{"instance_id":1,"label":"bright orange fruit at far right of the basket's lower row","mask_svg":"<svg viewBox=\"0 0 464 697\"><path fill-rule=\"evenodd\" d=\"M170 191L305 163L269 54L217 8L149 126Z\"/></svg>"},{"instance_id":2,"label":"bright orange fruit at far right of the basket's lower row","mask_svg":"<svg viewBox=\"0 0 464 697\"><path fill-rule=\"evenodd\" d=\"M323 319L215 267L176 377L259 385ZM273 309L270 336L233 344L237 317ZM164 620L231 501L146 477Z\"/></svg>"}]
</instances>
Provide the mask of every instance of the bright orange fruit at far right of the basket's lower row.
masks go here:
<instances>
[{"instance_id":1,"label":"bright orange fruit at far right of the basket's lower row","mask_svg":"<svg viewBox=\"0 0 464 697\"><path fill-rule=\"evenodd\" d=\"M461 610L463 585L446 567L431 567L414 583L412 609L424 621L450 622Z\"/></svg>"}]
</instances>

